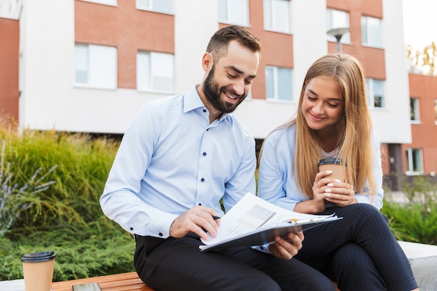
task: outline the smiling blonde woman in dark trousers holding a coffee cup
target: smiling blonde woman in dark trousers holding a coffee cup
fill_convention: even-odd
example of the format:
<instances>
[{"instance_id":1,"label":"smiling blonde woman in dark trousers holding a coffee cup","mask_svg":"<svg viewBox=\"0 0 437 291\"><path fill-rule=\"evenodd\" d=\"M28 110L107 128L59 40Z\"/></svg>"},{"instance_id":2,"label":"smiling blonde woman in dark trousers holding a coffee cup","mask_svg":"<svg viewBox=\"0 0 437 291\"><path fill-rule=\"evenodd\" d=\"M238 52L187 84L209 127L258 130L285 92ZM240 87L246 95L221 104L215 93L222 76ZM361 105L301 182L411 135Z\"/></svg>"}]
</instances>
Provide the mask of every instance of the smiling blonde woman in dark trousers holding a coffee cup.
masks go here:
<instances>
[{"instance_id":1,"label":"smiling blonde woman in dark trousers holding a coffee cup","mask_svg":"<svg viewBox=\"0 0 437 291\"><path fill-rule=\"evenodd\" d=\"M321 158L346 161L348 182L318 172ZM341 291L417 290L379 211L382 176L360 62L348 54L321 57L306 73L296 117L263 144L258 195L293 211L343 217L307 230L295 256L336 281Z\"/></svg>"}]
</instances>

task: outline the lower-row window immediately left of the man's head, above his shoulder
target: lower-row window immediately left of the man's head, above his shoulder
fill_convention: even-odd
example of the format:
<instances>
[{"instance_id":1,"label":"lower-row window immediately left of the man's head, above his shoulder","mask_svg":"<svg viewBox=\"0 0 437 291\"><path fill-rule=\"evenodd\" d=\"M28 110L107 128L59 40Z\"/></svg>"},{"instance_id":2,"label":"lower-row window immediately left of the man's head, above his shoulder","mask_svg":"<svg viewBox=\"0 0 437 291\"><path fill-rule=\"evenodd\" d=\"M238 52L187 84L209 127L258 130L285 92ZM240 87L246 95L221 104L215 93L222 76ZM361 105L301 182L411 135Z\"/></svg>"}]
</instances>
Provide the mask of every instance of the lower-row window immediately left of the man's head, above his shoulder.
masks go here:
<instances>
[{"instance_id":1,"label":"lower-row window immediately left of the man's head, above his shoulder","mask_svg":"<svg viewBox=\"0 0 437 291\"><path fill-rule=\"evenodd\" d=\"M138 52L137 89L140 91L175 91L175 58L172 54Z\"/></svg>"}]
</instances>

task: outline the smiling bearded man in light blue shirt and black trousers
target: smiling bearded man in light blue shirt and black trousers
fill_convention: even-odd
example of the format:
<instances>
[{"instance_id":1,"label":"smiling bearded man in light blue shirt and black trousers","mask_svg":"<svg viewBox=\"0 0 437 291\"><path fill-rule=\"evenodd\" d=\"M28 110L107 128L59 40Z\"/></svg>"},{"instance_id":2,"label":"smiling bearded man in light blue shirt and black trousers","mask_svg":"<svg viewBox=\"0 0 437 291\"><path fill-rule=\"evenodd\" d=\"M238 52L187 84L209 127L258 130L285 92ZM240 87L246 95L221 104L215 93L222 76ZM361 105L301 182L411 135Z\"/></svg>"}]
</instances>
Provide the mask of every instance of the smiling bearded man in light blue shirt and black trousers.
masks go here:
<instances>
[{"instance_id":1,"label":"smiling bearded man in light blue shirt and black trousers","mask_svg":"<svg viewBox=\"0 0 437 291\"><path fill-rule=\"evenodd\" d=\"M260 43L243 27L214 33L202 57L201 84L140 108L124 134L101 207L135 235L135 269L155 290L334 290L292 259L304 236L251 247L200 252L223 215L255 193L255 141L232 115L252 86ZM206 231L206 232L205 232Z\"/></svg>"}]
</instances>

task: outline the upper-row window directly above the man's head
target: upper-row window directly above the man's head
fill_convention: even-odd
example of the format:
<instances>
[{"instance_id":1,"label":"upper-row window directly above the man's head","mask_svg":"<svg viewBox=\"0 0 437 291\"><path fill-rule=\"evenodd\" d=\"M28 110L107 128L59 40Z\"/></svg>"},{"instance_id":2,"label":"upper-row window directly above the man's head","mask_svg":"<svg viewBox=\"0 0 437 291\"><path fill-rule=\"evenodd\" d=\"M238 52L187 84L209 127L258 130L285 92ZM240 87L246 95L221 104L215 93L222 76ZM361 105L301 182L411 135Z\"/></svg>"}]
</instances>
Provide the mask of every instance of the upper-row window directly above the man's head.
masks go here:
<instances>
[{"instance_id":1,"label":"upper-row window directly above the man's head","mask_svg":"<svg viewBox=\"0 0 437 291\"><path fill-rule=\"evenodd\" d=\"M218 21L249 25L249 1L218 0Z\"/></svg>"}]
</instances>

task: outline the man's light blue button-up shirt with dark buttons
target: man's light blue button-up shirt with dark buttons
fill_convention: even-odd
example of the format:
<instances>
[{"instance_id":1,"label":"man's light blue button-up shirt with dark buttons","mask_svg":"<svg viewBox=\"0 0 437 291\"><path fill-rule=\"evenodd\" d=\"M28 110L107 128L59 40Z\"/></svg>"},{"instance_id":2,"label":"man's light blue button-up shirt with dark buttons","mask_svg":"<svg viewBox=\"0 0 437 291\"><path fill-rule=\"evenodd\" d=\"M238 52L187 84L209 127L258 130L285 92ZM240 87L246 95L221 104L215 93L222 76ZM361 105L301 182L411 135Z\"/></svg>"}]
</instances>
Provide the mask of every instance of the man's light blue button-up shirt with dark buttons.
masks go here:
<instances>
[{"instance_id":1,"label":"man's light blue button-up shirt with dark buttons","mask_svg":"<svg viewBox=\"0 0 437 291\"><path fill-rule=\"evenodd\" d=\"M146 103L124 134L100 202L132 234L167 238L171 223L201 204L223 215L255 193L255 141L232 115L209 124L195 87Z\"/></svg>"}]
</instances>

